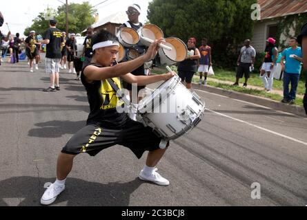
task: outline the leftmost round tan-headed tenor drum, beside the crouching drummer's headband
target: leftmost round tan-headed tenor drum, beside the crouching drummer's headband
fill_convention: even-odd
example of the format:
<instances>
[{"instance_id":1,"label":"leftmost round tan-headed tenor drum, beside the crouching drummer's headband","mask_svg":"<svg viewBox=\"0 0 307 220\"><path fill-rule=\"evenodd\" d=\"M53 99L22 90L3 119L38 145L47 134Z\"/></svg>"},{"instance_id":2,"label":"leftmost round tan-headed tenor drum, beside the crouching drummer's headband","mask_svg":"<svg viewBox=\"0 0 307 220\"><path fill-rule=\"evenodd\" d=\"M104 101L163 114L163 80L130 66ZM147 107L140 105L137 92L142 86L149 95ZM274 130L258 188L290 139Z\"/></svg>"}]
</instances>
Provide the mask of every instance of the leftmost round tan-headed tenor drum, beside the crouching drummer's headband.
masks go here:
<instances>
[{"instance_id":1,"label":"leftmost round tan-headed tenor drum, beside the crouching drummer's headband","mask_svg":"<svg viewBox=\"0 0 307 220\"><path fill-rule=\"evenodd\" d=\"M117 33L117 38L123 47L132 47L139 43L139 34L133 28L121 28Z\"/></svg>"}]
</instances>

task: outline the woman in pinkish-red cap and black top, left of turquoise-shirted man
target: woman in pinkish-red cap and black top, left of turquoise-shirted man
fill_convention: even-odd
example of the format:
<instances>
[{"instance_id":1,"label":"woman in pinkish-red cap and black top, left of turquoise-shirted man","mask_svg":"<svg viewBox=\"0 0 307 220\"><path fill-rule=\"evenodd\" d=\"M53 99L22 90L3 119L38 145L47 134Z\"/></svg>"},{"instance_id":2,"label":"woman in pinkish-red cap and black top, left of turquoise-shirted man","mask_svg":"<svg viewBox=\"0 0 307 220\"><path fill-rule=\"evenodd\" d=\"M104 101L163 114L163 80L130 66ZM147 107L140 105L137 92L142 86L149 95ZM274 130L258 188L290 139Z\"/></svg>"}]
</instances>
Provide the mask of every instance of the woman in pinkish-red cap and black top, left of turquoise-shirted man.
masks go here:
<instances>
[{"instance_id":1,"label":"woman in pinkish-red cap and black top, left of turquoise-shirted man","mask_svg":"<svg viewBox=\"0 0 307 220\"><path fill-rule=\"evenodd\" d=\"M270 92L273 87L273 77L276 69L278 50L275 46L276 40L269 37L266 40L266 49L264 50L264 60L260 67L260 77L264 82L264 90Z\"/></svg>"}]
</instances>

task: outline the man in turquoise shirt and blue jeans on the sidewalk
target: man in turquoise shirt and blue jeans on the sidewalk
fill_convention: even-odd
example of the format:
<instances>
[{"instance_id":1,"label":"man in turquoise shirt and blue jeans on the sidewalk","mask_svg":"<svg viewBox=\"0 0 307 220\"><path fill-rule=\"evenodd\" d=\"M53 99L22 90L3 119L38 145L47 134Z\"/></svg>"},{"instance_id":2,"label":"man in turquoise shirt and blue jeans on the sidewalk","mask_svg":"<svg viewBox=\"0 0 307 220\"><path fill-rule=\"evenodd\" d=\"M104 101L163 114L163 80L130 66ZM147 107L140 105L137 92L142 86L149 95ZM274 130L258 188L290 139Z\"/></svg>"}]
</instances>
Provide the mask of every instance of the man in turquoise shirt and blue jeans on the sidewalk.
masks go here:
<instances>
[{"instance_id":1,"label":"man in turquoise shirt and blue jeans on the sidewalk","mask_svg":"<svg viewBox=\"0 0 307 220\"><path fill-rule=\"evenodd\" d=\"M284 70L284 98L281 102L295 104L303 54L301 54L301 47L297 46L297 39L295 37L290 38L289 45L290 47L282 52L280 59L281 67ZM285 64L284 60L286 61ZM290 83L291 90L289 92Z\"/></svg>"}]
</instances>

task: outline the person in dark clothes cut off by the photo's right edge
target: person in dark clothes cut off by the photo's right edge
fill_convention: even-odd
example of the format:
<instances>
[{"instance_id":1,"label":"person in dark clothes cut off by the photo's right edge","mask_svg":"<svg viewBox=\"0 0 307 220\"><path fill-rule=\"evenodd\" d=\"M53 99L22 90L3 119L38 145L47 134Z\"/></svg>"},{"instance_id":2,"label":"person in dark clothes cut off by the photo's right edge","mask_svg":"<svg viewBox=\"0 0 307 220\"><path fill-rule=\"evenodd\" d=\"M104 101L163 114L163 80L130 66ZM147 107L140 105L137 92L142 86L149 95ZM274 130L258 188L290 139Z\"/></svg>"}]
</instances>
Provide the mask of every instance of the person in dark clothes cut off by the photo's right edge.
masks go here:
<instances>
[{"instance_id":1,"label":"person in dark clothes cut off by the photo's right edge","mask_svg":"<svg viewBox=\"0 0 307 220\"><path fill-rule=\"evenodd\" d=\"M304 24L303 28L301 28L301 34L297 37L297 41L301 45L301 50L303 52L303 66L307 71L307 23ZM305 76L305 89L303 104L307 115L307 76Z\"/></svg>"}]
</instances>

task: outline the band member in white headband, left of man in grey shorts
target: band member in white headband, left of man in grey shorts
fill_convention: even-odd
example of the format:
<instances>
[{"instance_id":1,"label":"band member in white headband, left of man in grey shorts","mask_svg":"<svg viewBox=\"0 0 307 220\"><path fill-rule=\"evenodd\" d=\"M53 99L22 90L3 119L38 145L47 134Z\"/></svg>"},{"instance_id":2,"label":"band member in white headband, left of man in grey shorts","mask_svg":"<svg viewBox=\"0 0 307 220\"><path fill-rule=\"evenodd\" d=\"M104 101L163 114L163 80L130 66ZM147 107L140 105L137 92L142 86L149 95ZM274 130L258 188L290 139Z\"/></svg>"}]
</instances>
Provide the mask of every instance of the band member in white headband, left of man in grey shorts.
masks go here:
<instances>
[{"instance_id":1,"label":"band member in white headband, left of man in grey shorts","mask_svg":"<svg viewBox=\"0 0 307 220\"><path fill-rule=\"evenodd\" d=\"M35 59L35 69L39 69L39 54L37 52L37 38L35 37L35 31L30 31L30 36L28 36L25 40L26 42L26 54L29 58L30 72L33 72L33 59Z\"/></svg>"}]
</instances>

